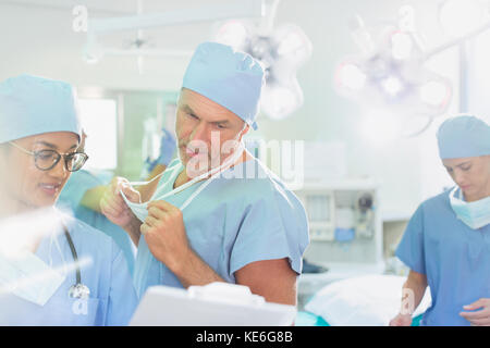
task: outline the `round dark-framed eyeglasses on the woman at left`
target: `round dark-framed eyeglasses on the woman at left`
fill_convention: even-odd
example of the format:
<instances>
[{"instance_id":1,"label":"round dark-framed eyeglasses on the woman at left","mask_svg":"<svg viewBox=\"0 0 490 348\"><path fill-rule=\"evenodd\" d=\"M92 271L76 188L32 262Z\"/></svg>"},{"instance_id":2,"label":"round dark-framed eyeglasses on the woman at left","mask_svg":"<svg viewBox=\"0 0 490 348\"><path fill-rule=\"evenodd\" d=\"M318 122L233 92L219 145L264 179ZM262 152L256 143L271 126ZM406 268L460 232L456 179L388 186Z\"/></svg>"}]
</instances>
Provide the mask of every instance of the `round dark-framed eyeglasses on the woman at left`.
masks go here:
<instances>
[{"instance_id":1,"label":"round dark-framed eyeglasses on the woman at left","mask_svg":"<svg viewBox=\"0 0 490 348\"><path fill-rule=\"evenodd\" d=\"M88 156L84 152L72 152L72 153L59 153L56 150L40 150L40 151L28 151L13 141L9 141L21 151L34 156L34 164L40 171L52 170L61 158L64 158L64 167L69 172L76 172L82 169L82 166L87 162Z\"/></svg>"}]
</instances>

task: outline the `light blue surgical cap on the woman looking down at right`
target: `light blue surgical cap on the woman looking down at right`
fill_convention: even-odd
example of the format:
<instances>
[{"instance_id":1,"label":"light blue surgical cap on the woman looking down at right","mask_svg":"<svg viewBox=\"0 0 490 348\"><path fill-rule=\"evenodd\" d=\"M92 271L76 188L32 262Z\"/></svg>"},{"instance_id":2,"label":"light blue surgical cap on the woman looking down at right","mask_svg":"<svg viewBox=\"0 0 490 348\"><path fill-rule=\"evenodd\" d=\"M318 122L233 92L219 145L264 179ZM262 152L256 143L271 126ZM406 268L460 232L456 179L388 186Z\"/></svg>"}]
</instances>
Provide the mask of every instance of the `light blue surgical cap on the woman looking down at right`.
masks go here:
<instances>
[{"instance_id":1,"label":"light blue surgical cap on the woman looking down at right","mask_svg":"<svg viewBox=\"0 0 490 348\"><path fill-rule=\"evenodd\" d=\"M442 160L490 154L490 126L475 116L460 115L444 121L437 136Z\"/></svg>"}]
</instances>

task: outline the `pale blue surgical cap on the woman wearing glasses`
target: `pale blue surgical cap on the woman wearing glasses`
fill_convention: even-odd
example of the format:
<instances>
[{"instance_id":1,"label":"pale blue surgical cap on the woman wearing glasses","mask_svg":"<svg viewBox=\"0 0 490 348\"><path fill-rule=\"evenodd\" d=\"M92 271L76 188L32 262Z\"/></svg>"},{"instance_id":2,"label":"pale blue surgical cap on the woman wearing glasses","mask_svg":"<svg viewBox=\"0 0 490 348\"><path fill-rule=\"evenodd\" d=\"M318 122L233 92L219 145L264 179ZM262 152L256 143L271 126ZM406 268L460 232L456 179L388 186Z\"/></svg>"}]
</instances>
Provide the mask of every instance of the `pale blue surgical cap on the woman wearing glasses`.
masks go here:
<instances>
[{"instance_id":1,"label":"pale blue surgical cap on the woman wearing glasses","mask_svg":"<svg viewBox=\"0 0 490 348\"><path fill-rule=\"evenodd\" d=\"M32 75L0 83L0 144L50 132L82 135L71 85Z\"/></svg>"}]
</instances>

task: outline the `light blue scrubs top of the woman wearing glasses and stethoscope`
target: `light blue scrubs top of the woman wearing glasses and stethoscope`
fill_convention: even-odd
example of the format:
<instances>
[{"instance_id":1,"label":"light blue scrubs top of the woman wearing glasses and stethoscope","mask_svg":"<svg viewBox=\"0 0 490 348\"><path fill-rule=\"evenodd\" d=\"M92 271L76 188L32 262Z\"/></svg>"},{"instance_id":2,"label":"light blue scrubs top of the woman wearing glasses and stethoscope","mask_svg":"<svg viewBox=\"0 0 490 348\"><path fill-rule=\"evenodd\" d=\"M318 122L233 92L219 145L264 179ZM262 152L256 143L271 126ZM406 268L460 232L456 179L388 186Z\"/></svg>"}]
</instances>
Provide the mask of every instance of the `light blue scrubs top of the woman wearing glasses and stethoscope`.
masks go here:
<instances>
[{"instance_id":1,"label":"light blue scrubs top of the woman wearing glasses and stethoscope","mask_svg":"<svg viewBox=\"0 0 490 348\"><path fill-rule=\"evenodd\" d=\"M76 270L70 269L54 295L39 306L15 295L0 296L1 325L127 325L137 304L136 291L121 249L107 235L77 221L65 217L65 225L73 239L78 260L91 263L81 268L82 284L90 295L87 302L68 296L76 283ZM36 256L52 268L63 268L73 262L73 256L64 234L54 238L62 251L42 239Z\"/></svg>"}]
</instances>

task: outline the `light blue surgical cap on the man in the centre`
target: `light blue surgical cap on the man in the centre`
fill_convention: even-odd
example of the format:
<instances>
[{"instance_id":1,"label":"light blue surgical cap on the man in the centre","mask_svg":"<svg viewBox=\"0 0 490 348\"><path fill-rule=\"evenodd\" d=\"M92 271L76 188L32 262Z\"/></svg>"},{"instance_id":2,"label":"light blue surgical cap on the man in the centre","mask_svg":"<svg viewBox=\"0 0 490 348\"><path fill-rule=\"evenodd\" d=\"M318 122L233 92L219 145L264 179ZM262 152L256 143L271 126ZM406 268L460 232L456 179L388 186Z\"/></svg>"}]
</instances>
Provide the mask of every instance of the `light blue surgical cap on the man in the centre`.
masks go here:
<instances>
[{"instance_id":1,"label":"light blue surgical cap on the man in the centre","mask_svg":"<svg viewBox=\"0 0 490 348\"><path fill-rule=\"evenodd\" d=\"M264 69L252 55L226 45L204 42L191 59L182 87L219 103L257 129L255 117L264 84Z\"/></svg>"}]
</instances>

